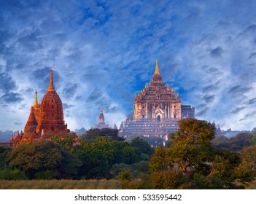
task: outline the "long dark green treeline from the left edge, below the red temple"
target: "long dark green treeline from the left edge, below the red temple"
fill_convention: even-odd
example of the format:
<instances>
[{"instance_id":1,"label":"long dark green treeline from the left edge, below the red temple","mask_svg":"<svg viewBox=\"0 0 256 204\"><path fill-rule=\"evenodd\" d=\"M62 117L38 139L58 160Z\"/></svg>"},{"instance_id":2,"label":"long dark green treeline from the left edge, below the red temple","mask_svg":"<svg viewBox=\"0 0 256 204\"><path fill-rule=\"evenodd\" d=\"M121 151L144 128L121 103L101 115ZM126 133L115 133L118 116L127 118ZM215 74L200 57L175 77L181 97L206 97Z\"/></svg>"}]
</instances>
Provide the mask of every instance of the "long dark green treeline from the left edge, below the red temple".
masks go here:
<instances>
[{"instance_id":1,"label":"long dark green treeline from the left edge, below the red temple","mask_svg":"<svg viewBox=\"0 0 256 204\"><path fill-rule=\"evenodd\" d=\"M111 131L111 130L110 130ZM83 137L82 137L83 138ZM0 179L115 178L125 168L148 166L151 146L141 138L131 143L120 138L93 136L35 141L17 148L0 146Z\"/></svg>"}]
</instances>

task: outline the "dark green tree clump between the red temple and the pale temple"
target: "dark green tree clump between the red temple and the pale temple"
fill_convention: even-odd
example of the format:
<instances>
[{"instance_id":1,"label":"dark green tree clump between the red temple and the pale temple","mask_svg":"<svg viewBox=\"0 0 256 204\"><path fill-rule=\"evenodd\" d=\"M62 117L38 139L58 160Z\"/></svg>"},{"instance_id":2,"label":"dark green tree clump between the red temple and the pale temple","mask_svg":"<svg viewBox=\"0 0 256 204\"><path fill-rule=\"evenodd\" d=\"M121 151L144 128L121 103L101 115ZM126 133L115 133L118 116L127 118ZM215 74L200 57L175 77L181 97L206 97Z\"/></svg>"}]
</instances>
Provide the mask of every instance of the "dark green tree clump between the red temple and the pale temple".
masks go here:
<instances>
[{"instance_id":1,"label":"dark green tree clump between the red temple and the pale temple","mask_svg":"<svg viewBox=\"0 0 256 204\"><path fill-rule=\"evenodd\" d=\"M111 173L113 165L120 163L131 165L139 162L141 156L141 152L128 142L106 137L82 142L75 154L82 161L79 169L79 176L82 178L111 178L115 176L115 173Z\"/></svg>"}]
</instances>

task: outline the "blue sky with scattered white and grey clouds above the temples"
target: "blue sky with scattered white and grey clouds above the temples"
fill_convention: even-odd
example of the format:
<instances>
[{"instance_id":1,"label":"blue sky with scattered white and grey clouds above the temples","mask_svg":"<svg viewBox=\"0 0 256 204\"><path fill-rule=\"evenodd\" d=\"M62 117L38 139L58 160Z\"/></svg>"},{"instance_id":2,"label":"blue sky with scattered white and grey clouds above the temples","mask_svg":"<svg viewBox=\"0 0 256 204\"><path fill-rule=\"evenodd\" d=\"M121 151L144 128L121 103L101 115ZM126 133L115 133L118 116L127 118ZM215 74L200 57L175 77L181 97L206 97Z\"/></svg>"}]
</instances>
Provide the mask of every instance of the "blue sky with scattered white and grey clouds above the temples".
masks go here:
<instances>
[{"instance_id":1,"label":"blue sky with scattered white and grey clouds above the temples","mask_svg":"<svg viewBox=\"0 0 256 204\"><path fill-rule=\"evenodd\" d=\"M0 0L0 130L23 130L53 69L71 130L117 127L158 59L195 117L256 127L256 1Z\"/></svg>"}]
</instances>

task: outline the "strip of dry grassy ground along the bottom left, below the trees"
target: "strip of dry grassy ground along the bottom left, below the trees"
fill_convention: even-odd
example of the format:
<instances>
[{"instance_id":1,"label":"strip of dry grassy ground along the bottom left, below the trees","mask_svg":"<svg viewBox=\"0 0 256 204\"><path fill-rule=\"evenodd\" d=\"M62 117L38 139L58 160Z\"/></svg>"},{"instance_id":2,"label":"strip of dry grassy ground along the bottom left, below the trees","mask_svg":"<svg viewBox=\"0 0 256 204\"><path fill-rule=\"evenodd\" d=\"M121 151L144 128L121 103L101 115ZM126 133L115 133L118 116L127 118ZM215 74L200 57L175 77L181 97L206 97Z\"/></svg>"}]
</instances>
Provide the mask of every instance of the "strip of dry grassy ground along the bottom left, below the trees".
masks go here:
<instances>
[{"instance_id":1,"label":"strip of dry grassy ground along the bottom left, below the trees","mask_svg":"<svg viewBox=\"0 0 256 204\"><path fill-rule=\"evenodd\" d=\"M0 189L120 189L118 180L0 180Z\"/></svg>"}]
</instances>

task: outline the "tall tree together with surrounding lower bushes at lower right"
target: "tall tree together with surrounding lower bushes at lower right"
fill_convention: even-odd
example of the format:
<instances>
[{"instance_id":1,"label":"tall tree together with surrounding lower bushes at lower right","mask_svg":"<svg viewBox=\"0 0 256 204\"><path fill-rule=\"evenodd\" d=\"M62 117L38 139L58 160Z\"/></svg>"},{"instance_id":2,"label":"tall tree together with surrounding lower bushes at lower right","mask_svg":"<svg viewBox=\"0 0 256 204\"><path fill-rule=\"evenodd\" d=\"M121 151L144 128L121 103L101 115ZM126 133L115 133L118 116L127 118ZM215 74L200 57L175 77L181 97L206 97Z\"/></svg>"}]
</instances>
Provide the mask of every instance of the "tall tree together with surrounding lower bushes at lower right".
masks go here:
<instances>
[{"instance_id":1,"label":"tall tree together with surrounding lower bushes at lower right","mask_svg":"<svg viewBox=\"0 0 256 204\"><path fill-rule=\"evenodd\" d=\"M153 189L235 189L252 180L237 152L212 147L214 126L209 122L184 119L170 137L171 146L152 155Z\"/></svg>"}]
</instances>

